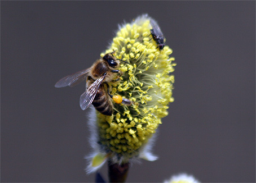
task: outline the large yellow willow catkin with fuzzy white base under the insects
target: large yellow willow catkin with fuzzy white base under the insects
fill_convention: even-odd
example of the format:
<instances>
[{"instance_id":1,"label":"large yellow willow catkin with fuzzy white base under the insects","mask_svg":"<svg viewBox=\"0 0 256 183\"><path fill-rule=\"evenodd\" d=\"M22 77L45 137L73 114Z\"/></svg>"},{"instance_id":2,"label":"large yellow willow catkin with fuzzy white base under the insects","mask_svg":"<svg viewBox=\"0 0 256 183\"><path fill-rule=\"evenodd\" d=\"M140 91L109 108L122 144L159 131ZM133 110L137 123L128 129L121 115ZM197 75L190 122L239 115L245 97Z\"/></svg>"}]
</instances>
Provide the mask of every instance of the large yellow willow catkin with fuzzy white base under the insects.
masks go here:
<instances>
[{"instance_id":1,"label":"large yellow willow catkin with fuzzy white base under the insects","mask_svg":"<svg viewBox=\"0 0 256 183\"><path fill-rule=\"evenodd\" d=\"M113 163L129 162L144 158L149 161L157 157L151 153L151 139L161 118L167 116L172 97L175 59L168 45L160 51L152 39L151 17L142 15L131 24L120 26L111 46L101 53L115 51L121 62L120 81L109 83L112 95L121 95L133 101L126 106L113 102L112 116L96 112L95 152L105 154ZM95 134L94 134L95 135ZM92 142L94 143L94 142Z\"/></svg>"}]
</instances>

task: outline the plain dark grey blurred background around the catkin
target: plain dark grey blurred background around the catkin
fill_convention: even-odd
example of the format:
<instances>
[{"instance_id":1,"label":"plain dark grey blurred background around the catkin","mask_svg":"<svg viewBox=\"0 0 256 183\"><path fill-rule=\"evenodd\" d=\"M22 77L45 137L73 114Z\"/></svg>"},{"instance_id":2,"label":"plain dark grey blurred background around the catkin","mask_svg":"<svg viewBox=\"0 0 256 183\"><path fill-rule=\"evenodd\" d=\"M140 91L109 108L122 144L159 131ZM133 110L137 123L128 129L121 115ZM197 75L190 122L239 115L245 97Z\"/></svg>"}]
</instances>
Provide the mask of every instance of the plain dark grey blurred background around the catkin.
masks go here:
<instances>
[{"instance_id":1,"label":"plain dark grey blurred background around the catkin","mask_svg":"<svg viewBox=\"0 0 256 183\"><path fill-rule=\"evenodd\" d=\"M127 181L187 172L202 182L255 182L255 1L1 1L1 181L93 182L84 85L123 20L149 13L176 58L175 102L154 148ZM106 176L107 167L101 172Z\"/></svg>"}]
</instances>

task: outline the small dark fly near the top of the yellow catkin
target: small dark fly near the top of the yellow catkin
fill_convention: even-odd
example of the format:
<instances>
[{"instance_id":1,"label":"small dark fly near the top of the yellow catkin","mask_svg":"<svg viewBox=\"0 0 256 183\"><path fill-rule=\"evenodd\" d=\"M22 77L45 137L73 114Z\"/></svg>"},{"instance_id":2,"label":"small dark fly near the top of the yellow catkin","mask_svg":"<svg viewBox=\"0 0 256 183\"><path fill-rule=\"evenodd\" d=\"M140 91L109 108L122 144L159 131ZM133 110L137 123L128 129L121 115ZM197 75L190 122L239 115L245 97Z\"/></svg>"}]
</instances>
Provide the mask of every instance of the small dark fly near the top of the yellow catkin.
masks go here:
<instances>
[{"instance_id":1,"label":"small dark fly near the top of the yellow catkin","mask_svg":"<svg viewBox=\"0 0 256 183\"><path fill-rule=\"evenodd\" d=\"M150 30L151 35L152 35L153 39L156 41L156 43L161 51L165 47L164 35L162 34L162 31L155 20L151 19L150 24L152 26L152 29Z\"/></svg>"}]
</instances>

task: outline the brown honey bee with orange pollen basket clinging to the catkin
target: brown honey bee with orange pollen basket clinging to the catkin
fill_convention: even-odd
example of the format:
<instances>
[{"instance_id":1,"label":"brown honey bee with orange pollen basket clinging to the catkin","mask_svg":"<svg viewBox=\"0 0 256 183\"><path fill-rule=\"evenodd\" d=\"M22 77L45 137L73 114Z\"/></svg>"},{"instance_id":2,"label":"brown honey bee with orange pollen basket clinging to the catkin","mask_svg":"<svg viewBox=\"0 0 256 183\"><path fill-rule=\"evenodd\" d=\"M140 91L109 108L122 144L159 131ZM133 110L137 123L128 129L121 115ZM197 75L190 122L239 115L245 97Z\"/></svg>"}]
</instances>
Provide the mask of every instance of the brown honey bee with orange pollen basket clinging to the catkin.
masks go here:
<instances>
[{"instance_id":1,"label":"brown honey bee with orange pollen basket clinging to the catkin","mask_svg":"<svg viewBox=\"0 0 256 183\"><path fill-rule=\"evenodd\" d=\"M123 103L130 106L132 102L129 99L122 98L120 95L113 96L108 91L108 83L117 81L118 77L122 75L121 71L117 70L122 60L115 58L113 53L105 54L90 68L63 77L55 84L55 87L72 87L86 79L86 91L80 97L82 110L87 109L92 104L103 115L111 116L113 103L110 98L118 104Z\"/></svg>"}]
</instances>

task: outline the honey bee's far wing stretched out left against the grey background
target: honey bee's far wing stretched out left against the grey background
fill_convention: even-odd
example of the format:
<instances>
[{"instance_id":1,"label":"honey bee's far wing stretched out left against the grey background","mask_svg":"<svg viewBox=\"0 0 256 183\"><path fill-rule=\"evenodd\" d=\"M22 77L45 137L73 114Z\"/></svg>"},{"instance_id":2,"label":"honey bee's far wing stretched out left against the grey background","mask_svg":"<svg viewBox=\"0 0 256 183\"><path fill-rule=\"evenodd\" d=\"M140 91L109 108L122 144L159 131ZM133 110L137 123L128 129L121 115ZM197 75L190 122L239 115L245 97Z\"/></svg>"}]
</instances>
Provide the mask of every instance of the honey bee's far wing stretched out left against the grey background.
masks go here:
<instances>
[{"instance_id":1,"label":"honey bee's far wing stretched out left against the grey background","mask_svg":"<svg viewBox=\"0 0 256 183\"><path fill-rule=\"evenodd\" d=\"M86 74L91 70L91 68L86 68L85 70L78 71L74 74L63 77L63 79L59 80L56 84L56 88L61 88L65 86L76 86L80 84L83 80L86 79Z\"/></svg>"}]
</instances>

